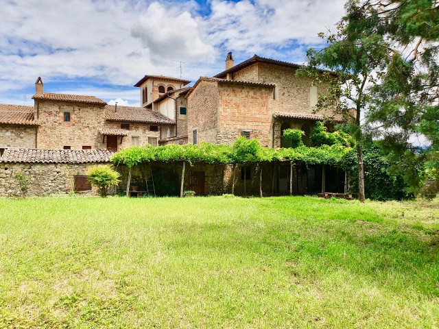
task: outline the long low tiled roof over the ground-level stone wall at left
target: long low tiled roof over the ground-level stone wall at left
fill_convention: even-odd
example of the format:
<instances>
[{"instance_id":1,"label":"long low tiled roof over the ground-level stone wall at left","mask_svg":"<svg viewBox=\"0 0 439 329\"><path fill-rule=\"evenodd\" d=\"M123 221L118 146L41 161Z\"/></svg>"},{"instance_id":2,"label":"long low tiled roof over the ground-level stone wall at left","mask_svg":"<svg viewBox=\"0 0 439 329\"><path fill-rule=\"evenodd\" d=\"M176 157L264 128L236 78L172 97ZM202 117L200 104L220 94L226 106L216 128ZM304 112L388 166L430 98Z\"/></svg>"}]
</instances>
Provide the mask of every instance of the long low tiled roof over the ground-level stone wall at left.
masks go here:
<instances>
[{"instance_id":1,"label":"long low tiled roof over the ground-level stone wall at left","mask_svg":"<svg viewBox=\"0 0 439 329\"><path fill-rule=\"evenodd\" d=\"M110 162L114 152L104 149L5 149L0 162L93 163Z\"/></svg>"}]
</instances>

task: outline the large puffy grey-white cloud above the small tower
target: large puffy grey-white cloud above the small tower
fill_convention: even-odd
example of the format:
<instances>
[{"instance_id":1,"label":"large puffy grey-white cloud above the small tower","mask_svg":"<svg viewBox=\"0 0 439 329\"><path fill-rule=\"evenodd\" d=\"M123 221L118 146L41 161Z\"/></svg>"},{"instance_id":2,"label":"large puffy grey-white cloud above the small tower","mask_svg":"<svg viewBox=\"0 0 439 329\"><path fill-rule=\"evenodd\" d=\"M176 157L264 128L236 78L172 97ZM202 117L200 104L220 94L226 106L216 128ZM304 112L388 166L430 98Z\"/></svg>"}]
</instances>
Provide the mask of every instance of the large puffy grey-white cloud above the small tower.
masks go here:
<instances>
[{"instance_id":1,"label":"large puffy grey-white cloud above the small tower","mask_svg":"<svg viewBox=\"0 0 439 329\"><path fill-rule=\"evenodd\" d=\"M182 5L185 8L185 5ZM134 38L139 38L149 49L155 63L172 60L211 62L212 45L202 40L198 23L180 6L167 6L154 2L131 28Z\"/></svg>"}]
</instances>

